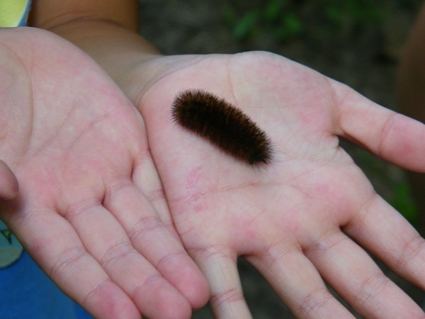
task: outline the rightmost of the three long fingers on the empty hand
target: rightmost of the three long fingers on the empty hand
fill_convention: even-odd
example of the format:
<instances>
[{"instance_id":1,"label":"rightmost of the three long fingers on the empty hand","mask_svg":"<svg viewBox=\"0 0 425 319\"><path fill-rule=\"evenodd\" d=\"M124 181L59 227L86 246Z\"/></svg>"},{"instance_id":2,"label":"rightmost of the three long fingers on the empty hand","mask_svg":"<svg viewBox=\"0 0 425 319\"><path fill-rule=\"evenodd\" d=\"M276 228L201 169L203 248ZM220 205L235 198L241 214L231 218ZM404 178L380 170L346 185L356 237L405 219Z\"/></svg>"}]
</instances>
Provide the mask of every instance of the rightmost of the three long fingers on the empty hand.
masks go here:
<instances>
[{"instance_id":1,"label":"rightmost of the three long fingers on the empty hand","mask_svg":"<svg viewBox=\"0 0 425 319\"><path fill-rule=\"evenodd\" d=\"M140 191L128 184L111 190L103 204L123 225L132 245L193 308L208 301L208 283L174 233L164 225Z\"/></svg>"}]
</instances>

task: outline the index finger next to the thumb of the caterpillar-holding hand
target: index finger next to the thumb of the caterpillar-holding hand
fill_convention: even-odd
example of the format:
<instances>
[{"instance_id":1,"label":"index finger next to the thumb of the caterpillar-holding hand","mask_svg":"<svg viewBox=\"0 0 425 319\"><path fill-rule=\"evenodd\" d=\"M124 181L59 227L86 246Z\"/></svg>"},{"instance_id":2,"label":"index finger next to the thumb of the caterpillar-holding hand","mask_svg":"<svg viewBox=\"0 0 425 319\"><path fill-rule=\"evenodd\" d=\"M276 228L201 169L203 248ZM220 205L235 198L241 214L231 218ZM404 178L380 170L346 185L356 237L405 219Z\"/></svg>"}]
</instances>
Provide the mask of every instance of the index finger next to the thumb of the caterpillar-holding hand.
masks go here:
<instances>
[{"instance_id":1,"label":"index finger next to the thumb of the caterpillar-holding hand","mask_svg":"<svg viewBox=\"0 0 425 319\"><path fill-rule=\"evenodd\" d=\"M344 231L397 274L425 290L425 240L380 196L365 203Z\"/></svg>"}]
</instances>

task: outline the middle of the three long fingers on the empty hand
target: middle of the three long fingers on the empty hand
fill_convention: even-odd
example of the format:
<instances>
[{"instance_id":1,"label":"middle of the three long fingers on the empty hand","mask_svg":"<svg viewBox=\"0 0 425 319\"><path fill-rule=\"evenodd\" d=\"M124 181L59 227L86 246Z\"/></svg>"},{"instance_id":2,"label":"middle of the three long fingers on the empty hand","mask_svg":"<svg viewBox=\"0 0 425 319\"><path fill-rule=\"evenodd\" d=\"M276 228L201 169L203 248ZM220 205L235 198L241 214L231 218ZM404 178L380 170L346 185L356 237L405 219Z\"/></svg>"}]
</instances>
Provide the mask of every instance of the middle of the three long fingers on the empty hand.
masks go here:
<instances>
[{"instance_id":1,"label":"middle of the three long fingers on the empty hand","mask_svg":"<svg viewBox=\"0 0 425 319\"><path fill-rule=\"evenodd\" d=\"M148 318L188 318L191 306L132 245L115 217L96 203L67 212L86 250ZM131 203L126 203L131 205ZM155 245L154 242L145 242Z\"/></svg>"}]
</instances>

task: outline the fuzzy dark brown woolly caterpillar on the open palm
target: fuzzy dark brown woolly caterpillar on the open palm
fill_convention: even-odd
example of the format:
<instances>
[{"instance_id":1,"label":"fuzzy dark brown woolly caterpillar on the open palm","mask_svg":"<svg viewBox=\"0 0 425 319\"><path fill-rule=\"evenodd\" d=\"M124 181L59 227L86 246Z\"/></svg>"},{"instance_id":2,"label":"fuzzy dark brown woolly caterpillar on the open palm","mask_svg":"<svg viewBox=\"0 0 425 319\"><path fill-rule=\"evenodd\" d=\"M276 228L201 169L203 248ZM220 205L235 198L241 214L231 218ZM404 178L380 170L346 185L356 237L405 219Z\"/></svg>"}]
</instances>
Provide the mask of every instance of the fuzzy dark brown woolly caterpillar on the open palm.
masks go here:
<instances>
[{"instance_id":1,"label":"fuzzy dark brown woolly caterpillar on the open palm","mask_svg":"<svg viewBox=\"0 0 425 319\"><path fill-rule=\"evenodd\" d=\"M271 140L236 106L207 91L181 92L171 114L183 128L208 139L212 145L249 164L273 159Z\"/></svg>"}]
</instances>

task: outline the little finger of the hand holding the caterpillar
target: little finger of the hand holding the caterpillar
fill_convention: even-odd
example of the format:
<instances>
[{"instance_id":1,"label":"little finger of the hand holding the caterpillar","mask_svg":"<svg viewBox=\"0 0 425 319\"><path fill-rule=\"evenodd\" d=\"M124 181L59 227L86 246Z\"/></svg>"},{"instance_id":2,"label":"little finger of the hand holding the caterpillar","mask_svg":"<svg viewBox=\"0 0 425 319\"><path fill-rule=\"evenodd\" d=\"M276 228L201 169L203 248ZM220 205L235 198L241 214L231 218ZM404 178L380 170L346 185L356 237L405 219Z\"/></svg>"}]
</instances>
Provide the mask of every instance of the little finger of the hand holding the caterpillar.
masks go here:
<instances>
[{"instance_id":1,"label":"little finger of the hand holding the caterpillar","mask_svg":"<svg viewBox=\"0 0 425 319\"><path fill-rule=\"evenodd\" d=\"M215 318L251 318L239 280L237 255L225 250L198 250L192 257L210 284L210 305Z\"/></svg>"}]
</instances>

